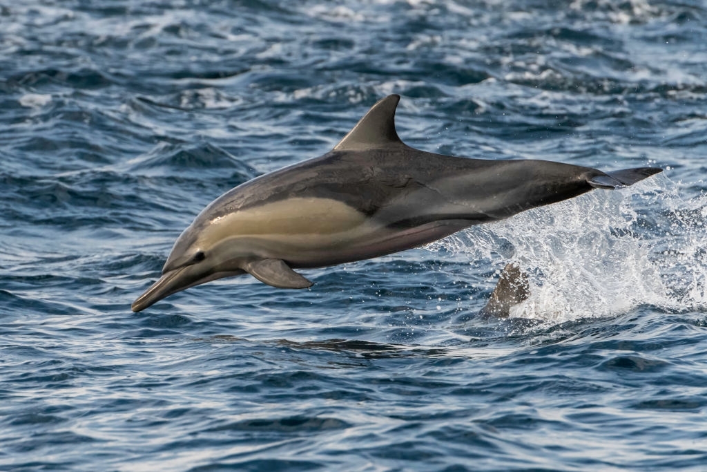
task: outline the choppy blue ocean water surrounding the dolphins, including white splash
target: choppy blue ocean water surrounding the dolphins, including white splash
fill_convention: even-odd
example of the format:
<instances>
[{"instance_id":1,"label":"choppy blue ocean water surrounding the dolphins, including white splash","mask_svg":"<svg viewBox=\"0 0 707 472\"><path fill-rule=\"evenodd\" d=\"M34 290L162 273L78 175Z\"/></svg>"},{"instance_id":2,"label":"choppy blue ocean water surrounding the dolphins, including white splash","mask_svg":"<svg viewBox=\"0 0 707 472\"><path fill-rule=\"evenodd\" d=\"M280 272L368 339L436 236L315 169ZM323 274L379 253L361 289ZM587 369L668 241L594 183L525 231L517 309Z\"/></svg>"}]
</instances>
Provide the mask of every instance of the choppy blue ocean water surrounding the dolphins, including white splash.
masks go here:
<instances>
[{"instance_id":1,"label":"choppy blue ocean water surrounding the dolphins, including white splash","mask_svg":"<svg viewBox=\"0 0 707 472\"><path fill-rule=\"evenodd\" d=\"M705 45L697 0L0 1L0 470L706 470ZM664 172L132 313L388 93L419 149Z\"/></svg>"}]
</instances>

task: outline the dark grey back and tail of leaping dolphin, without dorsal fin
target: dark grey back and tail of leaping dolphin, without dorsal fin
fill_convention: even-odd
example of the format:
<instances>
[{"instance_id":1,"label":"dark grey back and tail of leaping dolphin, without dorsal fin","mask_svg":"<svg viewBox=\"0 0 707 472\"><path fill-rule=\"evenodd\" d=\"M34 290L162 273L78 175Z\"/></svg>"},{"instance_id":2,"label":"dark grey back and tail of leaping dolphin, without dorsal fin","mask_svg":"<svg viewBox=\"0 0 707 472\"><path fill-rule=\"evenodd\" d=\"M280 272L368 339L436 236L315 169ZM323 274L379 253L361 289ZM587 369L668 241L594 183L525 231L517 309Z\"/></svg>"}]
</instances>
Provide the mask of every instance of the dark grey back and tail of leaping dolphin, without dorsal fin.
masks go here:
<instances>
[{"instance_id":1,"label":"dark grey back and tail of leaping dolphin, without dorsal fin","mask_svg":"<svg viewBox=\"0 0 707 472\"><path fill-rule=\"evenodd\" d=\"M279 200L316 198L341 202L385 226L414 227L448 219L467 220L470 226L592 188L631 185L653 173L653 168L607 174L551 161L467 159L404 144L334 150L239 185L202 214L213 219Z\"/></svg>"}]
</instances>

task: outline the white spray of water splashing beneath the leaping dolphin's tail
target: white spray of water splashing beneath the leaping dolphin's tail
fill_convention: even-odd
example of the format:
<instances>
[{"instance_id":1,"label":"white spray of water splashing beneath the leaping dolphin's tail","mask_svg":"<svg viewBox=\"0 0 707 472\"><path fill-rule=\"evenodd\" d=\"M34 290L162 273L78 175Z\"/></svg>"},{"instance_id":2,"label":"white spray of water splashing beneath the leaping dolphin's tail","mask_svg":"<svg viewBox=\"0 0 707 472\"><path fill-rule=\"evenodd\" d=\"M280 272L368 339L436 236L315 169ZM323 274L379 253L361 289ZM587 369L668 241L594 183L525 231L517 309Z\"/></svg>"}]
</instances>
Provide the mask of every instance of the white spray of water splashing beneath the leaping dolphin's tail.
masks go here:
<instances>
[{"instance_id":1,"label":"white spray of water splashing beneath the leaping dolphin's tail","mask_svg":"<svg viewBox=\"0 0 707 472\"><path fill-rule=\"evenodd\" d=\"M562 323L639 306L704 309L706 229L707 195L684 200L678 185L658 175L472 227L428 247L498 267L517 263L529 275L531 295L510 316Z\"/></svg>"}]
</instances>

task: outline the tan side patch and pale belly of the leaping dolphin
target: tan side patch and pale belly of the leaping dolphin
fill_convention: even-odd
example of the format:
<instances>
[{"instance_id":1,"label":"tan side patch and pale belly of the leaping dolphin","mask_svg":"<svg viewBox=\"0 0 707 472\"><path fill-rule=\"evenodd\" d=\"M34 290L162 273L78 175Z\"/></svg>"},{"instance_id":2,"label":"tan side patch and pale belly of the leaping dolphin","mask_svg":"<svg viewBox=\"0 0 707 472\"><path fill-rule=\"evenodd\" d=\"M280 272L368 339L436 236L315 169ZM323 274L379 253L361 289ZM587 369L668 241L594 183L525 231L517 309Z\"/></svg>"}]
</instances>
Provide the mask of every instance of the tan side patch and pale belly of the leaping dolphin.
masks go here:
<instances>
[{"instance_id":1,"label":"tan side patch and pale belly of the leaping dolphin","mask_svg":"<svg viewBox=\"0 0 707 472\"><path fill-rule=\"evenodd\" d=\"M202 236L220 241L219 252L282 259L291 267L323 267L419 246L464 226L468 222L436 221L392 229L343 202L312 197L224 215Z\"/></svg>"}]
</instances>

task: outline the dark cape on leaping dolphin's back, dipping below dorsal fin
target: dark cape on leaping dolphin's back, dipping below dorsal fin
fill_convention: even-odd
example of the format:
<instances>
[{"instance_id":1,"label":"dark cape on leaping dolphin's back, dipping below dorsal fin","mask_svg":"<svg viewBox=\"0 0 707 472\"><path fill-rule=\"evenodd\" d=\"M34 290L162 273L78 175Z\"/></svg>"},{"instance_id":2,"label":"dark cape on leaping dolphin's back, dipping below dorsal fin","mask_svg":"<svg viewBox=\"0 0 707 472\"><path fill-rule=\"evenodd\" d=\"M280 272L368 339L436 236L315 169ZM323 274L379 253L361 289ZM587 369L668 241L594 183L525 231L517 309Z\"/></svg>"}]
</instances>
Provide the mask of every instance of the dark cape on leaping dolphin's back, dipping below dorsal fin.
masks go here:
<instances>
[{"instance_id":1,"label":"dark cape on leaping dolphin's back, dipping below dorsal fin","mask_svg":"<svg viewBox=\"0 0 707 472\"><path fill-rule=\"evenodd\" d=\"M462 176L468 184L474 172L484 173L493 167L500 171L508 162L443 156L408 146L331 151L239 185L214 200L204 213L218 217L276 200L328 198L371 216L414 192L427 193L430 204L445 200L450 192L440 193L436 183ZM459 192L451 195L455 193ZM458 200L460 195L454 197Z\"/></svg>"}]
</instances>

